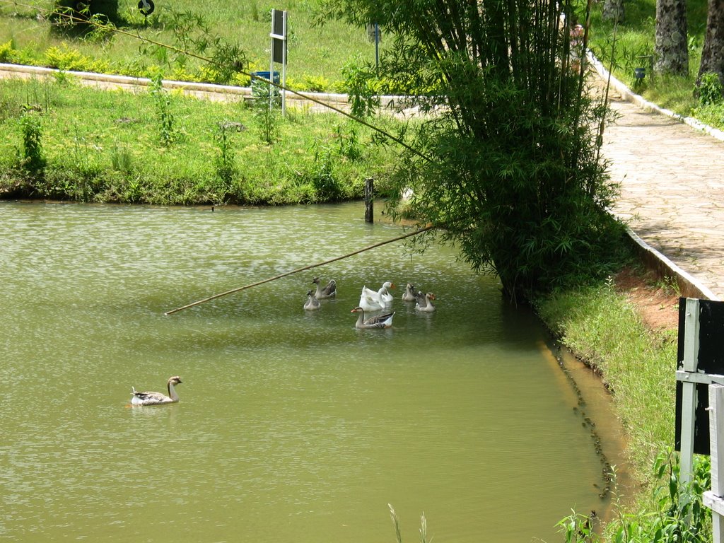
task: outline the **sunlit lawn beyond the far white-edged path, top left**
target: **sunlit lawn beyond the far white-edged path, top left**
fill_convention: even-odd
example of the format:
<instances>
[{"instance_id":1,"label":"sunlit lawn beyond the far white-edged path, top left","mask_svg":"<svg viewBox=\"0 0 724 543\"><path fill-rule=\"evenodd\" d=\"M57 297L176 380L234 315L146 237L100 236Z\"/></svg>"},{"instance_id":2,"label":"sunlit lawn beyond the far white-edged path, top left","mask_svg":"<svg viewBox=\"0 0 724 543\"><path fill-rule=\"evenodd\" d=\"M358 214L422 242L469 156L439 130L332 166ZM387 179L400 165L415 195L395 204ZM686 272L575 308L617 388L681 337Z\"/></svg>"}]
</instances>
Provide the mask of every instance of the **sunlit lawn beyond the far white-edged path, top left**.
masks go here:
<instances>
[{"instance_id":1,"label":"sunlit lawn beyond the far white-edged path, top left","mask_svg":"<svg viewBox=\"0 0 724 543\"><path fill-rule=\"evenodd\" d=\"M194 59L185 65L175 62L175 54L164 56L161 51L143 46L130 35L116 34L103 41L88 41L77 33L54 28L43 17L53 6L52 0L28 0L23 4L32 7L0 0L0 62L3 46L12 47L11 54L5 54L5 62L18 64L46 65L49 64L47 51L71 49L87 59L103 59L109 72L148 76L163 70L167 78L204 79L201 62ZM201 3L159 0L148 20L138 12L136 0L118 0L117 4L118 16L114 23L118 28L171 45L177 43L173 34L174 13L202 17L213 35L219 35L229 43L238 43L246 52L245 71L269 70L271 8L285 9L288 12L287 83L291 88L319 88L321 82L324 90L335 90L342 80L340 68L350 59L362 56L374 62L374 43L369 42L364 28L350 28L335 21L321 28L313 25L316 0L209 0ZM195 35L201 33L195 31ZM92 64L90 60L88 62ZM276 69L281 71L281 65L277 64ZM239 77L235 83L248 85L248 77Z\"/></svg>"}]
</instances>

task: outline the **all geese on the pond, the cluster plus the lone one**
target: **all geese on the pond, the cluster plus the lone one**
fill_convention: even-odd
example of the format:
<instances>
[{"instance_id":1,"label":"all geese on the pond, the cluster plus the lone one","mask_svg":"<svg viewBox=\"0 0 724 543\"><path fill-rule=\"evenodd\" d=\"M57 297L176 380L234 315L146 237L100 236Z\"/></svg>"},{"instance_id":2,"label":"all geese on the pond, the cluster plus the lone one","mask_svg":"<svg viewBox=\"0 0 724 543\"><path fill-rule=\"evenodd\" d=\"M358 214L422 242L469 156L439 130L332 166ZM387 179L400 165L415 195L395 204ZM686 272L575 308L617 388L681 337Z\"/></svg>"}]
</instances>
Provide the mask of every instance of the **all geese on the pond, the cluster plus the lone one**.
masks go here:
<instances>
[{"instance_id":1,"label":"all geese on the pond, the cluster plus the lone one","mask_svg":"<svg viewBox=\"0 0 724 543\"><path fill-rule=\"evenodd\" d=\"M307 292L307 301L304 304L306 311L319 309L321 307L319 300L327 300L337 295L337 282L334 281L334 279L324 287L321 286L319 277L315 277L312 282L316 285L316 291L312 292L309 290ZM392 326L392 317L395 316L395 311L389 311L390 306L392 306L392 300L394 300L392 294L390 294L390 289L394 288L395 284L390 281L384 282L379 290L371 290L366 286L362 287L360 303L352 310L352 313L358 314L355 328L384 329ZM416 311L422 311L424 313L432 313L432 311L435 311L435 306L432 305L432 300L435 299L435 295L432 292L423 294L421 290L416 291L415 285L411 283L405 286L405 293L402 295L402 299L405 302L415 302ZM370 316L366 319L365 311L370 313L383 311L383 313ZM179 395L174 387L181 383L180 376L174 375L169 377L166 384L168 394L164 394L163 392L138 392L135 390L135 387L131 387L131 405L164 405L167 403L177 403L179 401Z\"/></svg>"}]
</instances>

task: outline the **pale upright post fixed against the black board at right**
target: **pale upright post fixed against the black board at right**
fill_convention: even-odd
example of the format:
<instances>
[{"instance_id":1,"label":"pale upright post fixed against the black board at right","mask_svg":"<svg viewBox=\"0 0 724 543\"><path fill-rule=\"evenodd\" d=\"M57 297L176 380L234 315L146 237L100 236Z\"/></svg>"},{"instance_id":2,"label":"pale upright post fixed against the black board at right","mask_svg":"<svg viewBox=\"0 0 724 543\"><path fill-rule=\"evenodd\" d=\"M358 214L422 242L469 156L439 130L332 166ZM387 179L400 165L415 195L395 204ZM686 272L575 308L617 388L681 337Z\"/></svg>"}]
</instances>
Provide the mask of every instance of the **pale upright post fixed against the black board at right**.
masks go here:
<instances>
[{"instance_id":1,"label":"pale upright post fixed against the black board at right","mask_svg":"<svg viewBox=\"0 0 724 543\"><path fill-rule=\"evenodd\" d=\"M696 373L699 365L699 300L686 298L683 371ZM696 382L681 383L681 482L691 482L694 473L694 424L696 422Z\"/></svg>"}]
</instances>

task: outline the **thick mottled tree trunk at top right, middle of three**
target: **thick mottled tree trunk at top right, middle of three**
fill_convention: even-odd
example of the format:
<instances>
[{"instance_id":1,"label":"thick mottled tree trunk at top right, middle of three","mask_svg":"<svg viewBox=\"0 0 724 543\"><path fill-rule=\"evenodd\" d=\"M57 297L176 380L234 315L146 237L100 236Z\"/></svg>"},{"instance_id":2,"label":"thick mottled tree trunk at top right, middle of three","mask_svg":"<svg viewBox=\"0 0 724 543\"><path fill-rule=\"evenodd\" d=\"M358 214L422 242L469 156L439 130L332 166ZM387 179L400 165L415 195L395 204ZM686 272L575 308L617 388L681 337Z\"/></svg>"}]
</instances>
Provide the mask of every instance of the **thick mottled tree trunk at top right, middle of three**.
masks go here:
<instances>
[{"instance_id":1,"label":"thick mottled tree trunk at top right, middle of three","mask_svg":"<svg viewBox=\"0 0 724 543\"><path fill-rule=\"evenodd\" d=\"M657 0L654 53L654 70L657 73L689 75L686 0Z\"/></svg>"}]
</instances>

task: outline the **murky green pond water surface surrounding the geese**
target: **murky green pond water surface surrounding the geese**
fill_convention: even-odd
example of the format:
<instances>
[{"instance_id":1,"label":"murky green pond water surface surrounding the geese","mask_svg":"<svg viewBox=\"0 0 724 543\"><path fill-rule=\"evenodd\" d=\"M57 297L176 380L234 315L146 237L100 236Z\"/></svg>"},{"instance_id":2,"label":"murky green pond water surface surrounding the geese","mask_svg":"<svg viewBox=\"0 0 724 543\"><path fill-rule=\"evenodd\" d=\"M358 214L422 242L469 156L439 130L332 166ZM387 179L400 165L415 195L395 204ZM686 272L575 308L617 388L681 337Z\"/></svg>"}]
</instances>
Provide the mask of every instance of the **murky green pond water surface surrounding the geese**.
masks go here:
<instances>
[{"instance_id":1,"label":"murky green pond water surface surrounding the geese","mask_svg":"<svg viewBox=\"0 0 724 543\"><path fill-rule=\"evenodd\" d=\"M1 203L0 539L382 541L392 503L404 539L424 511L450 542L555 541L571 508L605 508L539 323L448 248L392 243L164 316L400 234L362 216ZM315 275L337 299L303 311ZM386 280L394 327L355 329ZM175 374L180 403L127 407Z\"/></svg>"}]
</instances>

